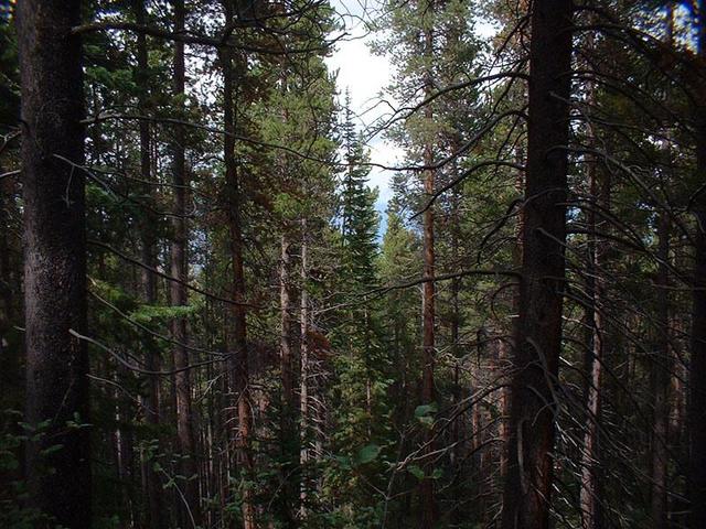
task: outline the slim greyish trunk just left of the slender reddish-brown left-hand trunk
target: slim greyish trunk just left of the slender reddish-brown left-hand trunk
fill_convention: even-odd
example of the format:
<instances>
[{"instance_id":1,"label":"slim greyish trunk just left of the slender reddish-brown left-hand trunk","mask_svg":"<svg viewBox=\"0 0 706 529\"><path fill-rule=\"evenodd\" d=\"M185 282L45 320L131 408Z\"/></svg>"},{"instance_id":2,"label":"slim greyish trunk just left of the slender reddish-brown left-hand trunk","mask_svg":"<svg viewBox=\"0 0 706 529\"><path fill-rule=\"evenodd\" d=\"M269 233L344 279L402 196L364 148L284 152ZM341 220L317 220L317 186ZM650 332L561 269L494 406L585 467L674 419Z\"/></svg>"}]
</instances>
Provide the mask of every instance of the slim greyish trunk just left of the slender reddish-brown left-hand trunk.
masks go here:
<instances>
[{"instance_id":1,"label":"slim greyish trunk just left of the slender reddish-brown left-hand trunk","mask_svg":"<svg viewBox=\"0 0 706 529\"><path fill-rule=\"evenodd\" d=\"M184 2L174 1L174 31L184 31ZM185 67L184 43L174 43L174 95L184 94ZM173 168L172 179L174 184L174 206L172 217L173 241L171 246L171 274L180 280L171 283L171 303L175 306L188 304L186 288L183 283L189 280L186 248L189 245L189 228L186 226L186 162L184 149L184 130L181 126L173 130ZM199 481L193 476L199 473L196 465L196 446L193 432L193 414L191 410L191 373L185 369L189 366L189 352L181 344L186 343L186 319L175 317L172 322L172 354L174 368L181 369L174 375L176 392L176 436L179 449L184 455L181 460L181 474L186 481L178 485L182 489L183 501L180 503L180 520L182 527L201 523L201 507L199 498ZM185 505L184 505L185 504Z\"/></svg>"}]
</instances>

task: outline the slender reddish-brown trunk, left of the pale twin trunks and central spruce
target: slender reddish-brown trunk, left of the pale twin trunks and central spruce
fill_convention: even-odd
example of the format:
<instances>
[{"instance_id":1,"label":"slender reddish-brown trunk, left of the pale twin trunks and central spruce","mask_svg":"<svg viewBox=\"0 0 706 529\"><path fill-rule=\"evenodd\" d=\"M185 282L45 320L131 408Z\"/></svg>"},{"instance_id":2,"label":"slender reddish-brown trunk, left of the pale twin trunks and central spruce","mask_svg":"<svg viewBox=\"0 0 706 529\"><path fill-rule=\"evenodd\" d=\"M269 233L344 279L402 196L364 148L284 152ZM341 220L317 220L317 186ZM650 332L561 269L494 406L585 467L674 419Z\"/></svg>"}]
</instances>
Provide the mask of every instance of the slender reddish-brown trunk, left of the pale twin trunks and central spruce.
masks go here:
<instances>
[{"instance_id":1,"label":"slender reddish-brown trunk, left of the pale twin trunks and central spruce","mask_svg":"<svg viewBox=\"0 0 706 529\"><path fill-rule=\"evenodd\" d=\"M224 1L226 21L231 22L234 17L233 3ZM247 327L245 309L245 269L243 259L243 220L242 220L242 182L238 177L237 162L235 159L235 83L234 83L234 61L229 48L222 51L223 61L223 115L225 121L224 136L224 159L225 159L225 183L226 202L228 216L228 230L231 235L231 262L233 266L233 301L232 305L232 345L234 347L233 358L233 390L237 398L236 408L238 413L238 432L235 444L237 449L237 462L247 477L252 482L253 458L250 454L250 432L253 428L253 412L250 409L249 374L248 374L248 348ZM240 65L239 65L240 66ZM253 505L253 490L249 486L243 490L243 527L254 529L255 507Z\"/></svg>"}]
</instances>

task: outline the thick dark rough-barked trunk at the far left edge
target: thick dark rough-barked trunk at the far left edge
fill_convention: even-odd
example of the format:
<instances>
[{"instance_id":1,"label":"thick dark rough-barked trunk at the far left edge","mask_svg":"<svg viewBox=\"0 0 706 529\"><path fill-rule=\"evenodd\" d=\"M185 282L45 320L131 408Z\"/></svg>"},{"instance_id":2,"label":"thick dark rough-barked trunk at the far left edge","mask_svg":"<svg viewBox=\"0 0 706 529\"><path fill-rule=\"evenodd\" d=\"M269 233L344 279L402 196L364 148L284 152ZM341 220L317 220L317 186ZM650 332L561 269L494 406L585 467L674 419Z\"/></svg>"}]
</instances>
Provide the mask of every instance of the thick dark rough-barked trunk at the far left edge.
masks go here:
<instances>
[{"instance_id":1,"label":"thick dark rough-barked trunk at the far left edge","mask_svg":"<svg viewBox=\"0 0 706 529\"><path fill-rule=\"evenodd\" d=\"M78 0L18 4L22 82L24 327L29 504L54 525L89 528L88 357L69 331L86 325L86 240L82 51L71 29ZM61 159L58 158L61 156ZM50 446L58 451L43 455ZM47 468L52 468L49 472ZM50 523L46 523L47 526Z\"/></svg>"}]
</instances>

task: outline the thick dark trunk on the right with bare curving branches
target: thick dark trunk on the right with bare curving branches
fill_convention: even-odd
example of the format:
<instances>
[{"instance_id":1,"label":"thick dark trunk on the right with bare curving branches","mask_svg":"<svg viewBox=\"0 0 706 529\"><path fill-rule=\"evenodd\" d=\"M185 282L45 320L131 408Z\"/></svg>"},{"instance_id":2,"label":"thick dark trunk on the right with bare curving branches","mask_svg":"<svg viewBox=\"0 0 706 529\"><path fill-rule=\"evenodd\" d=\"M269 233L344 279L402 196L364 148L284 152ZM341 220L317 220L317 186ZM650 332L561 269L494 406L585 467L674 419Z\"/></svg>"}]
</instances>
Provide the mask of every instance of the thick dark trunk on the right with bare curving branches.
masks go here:
<instances>
[{"instance_id":1,"label":"thick dark trunk on the right with bare curving branches","mask_svg":"<svg viewBox=\"0 0 706 529\"><path fill-rule=\"evenodd\" d=\"M555 385L561 349L571 1L536 0L520 314L513 358L503 529L549 523Z\"/></svg>"}]
</instances>

